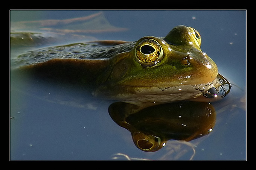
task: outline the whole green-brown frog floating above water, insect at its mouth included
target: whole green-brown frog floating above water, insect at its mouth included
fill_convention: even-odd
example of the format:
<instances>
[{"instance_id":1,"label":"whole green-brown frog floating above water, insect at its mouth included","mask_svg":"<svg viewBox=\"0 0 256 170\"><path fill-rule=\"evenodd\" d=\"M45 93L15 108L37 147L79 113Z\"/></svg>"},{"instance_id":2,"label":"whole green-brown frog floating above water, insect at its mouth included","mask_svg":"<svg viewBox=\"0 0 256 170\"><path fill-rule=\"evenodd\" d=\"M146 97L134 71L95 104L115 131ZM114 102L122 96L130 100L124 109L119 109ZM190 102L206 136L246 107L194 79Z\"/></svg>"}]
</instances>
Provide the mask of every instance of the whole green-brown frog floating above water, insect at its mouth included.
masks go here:
<instances>
[{"instance_id":1,"label":"whole green-brown frog floating above water, insect at its mouth included","mask_svg":"<svg viewBox=\"0 0 256 170\"><path fill-rule=\"evenodd\" d=\"M230 91L201 49L200 33L183 25L164 38L96 41L48 47L18 56L18 70L93 87L93 95L127 103L215 99ZM227 85L228 88L225 87Z\"/></svg>"}]
</instances>

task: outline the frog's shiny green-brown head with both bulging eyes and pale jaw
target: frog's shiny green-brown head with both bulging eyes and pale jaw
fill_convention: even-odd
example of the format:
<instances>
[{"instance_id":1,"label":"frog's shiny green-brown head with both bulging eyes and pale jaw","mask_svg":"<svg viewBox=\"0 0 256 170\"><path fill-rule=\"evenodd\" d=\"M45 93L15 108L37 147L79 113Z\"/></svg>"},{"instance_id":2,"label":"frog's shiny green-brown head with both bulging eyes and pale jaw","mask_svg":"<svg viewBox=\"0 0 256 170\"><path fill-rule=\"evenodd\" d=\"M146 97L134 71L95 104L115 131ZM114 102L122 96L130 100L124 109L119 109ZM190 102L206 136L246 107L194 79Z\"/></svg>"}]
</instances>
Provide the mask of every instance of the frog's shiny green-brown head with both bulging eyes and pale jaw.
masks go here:
<instances>
[{"instance_id":1,"label":"frog's shiny green-brown head with both bulging eyes and pale jaw","mask_svg":"<svg viewBox=\"0 0 256 170\"><path fill-rule=\"evenodd\" d=\"M174 27L164 38L143 37L131 51L111 58L101 92L107 89L115 99L141 102L201 96L217 83L218 68L200 45L200 34L186 26Z\"/></svg>"}]
</instances>

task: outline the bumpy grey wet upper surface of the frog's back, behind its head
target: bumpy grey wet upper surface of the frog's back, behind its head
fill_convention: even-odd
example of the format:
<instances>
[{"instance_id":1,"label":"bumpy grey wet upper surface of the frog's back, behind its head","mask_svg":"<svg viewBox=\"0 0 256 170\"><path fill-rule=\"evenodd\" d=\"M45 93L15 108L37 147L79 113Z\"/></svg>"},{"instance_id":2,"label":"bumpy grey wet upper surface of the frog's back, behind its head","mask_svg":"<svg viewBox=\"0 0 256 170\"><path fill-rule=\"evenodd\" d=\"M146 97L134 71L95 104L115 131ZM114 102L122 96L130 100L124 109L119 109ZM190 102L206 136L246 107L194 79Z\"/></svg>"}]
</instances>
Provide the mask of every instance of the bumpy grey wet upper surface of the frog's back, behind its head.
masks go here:
<instances>
[{"instance_id":1,"label":"bumpy grey wet upper surface of the frog's back, behind its head","mask_svg":"<svg viewBox=\"0 0 256 170\"><path fill-rule=\"evenodd\" d=\"M134 43L126 41L95 41L48 47L18 56L14 61L14 65L21 67L56 59L69 61L76 59L76 62L86 62L87 59L108 59L118 53L130 51L133 46Z\"/></svg>"}]
</instances>

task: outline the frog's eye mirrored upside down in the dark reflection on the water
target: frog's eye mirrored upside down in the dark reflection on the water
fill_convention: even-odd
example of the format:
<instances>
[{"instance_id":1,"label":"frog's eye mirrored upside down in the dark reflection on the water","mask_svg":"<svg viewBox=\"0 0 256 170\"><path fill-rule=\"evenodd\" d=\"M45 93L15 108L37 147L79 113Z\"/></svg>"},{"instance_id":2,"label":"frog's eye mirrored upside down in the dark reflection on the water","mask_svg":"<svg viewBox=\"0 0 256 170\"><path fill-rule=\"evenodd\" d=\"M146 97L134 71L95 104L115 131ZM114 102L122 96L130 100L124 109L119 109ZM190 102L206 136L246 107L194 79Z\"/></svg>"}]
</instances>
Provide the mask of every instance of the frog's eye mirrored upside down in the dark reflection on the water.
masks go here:
<instances>
[{"instance_id":1,"label":"frog's eye mirrored upside down in the dark reflection on the water","mask_svg":"<svg viewBox=\"0 0 256 170\"><path fill-rule=\"evenodd\" d=\"M165 143L161 143L161 139L154 135L146 135L142 132L136 132L133 134L134 144L143 151L154 152L165 146Z\"/></svg>"}]
</instances>

